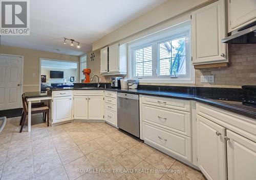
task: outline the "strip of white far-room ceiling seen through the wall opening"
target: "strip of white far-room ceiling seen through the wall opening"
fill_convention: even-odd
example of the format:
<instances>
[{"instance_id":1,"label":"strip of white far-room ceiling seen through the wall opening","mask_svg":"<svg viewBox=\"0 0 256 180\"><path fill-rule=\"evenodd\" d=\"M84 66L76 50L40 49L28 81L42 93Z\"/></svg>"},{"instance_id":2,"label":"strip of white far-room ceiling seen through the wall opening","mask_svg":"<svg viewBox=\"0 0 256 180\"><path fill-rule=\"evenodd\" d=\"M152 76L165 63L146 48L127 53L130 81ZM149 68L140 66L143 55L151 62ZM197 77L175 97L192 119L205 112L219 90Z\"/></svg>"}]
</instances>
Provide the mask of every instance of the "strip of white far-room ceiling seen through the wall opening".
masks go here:
<instances>
[{"instance_id":1,"label":"strip of white far-room ceiling seen through the wall opening","mask_svg":"<svg viewBox=\"0 0 256 180\"><path fill-rule=\"evenodd\" d=\"M41 67L57 69L77 69L76 62L41 60Z\"/></svg>"}]
</instances>

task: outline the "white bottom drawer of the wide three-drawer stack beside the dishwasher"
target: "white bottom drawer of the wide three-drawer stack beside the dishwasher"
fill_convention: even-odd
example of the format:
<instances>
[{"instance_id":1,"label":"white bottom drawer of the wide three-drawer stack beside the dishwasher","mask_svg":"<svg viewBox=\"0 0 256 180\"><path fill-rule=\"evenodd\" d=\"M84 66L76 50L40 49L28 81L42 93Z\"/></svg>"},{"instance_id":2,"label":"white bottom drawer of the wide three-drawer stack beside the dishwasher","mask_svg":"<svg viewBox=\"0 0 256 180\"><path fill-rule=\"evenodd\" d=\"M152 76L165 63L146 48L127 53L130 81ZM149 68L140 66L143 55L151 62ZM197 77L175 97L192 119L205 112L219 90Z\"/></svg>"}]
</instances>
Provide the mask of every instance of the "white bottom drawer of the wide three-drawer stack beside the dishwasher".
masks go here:
<instances>
[{"instance_id":1,"label":"white bottom drawer of the wide three-drawer stack beside the dishwasher","mask_svg":"<svg viewBox=\"0 0 256 180\"><path fill-rule=\"evenodd\" d=\"M143 122L143 139L191 162L191 138Z\"/></svg>"}]
</instances>

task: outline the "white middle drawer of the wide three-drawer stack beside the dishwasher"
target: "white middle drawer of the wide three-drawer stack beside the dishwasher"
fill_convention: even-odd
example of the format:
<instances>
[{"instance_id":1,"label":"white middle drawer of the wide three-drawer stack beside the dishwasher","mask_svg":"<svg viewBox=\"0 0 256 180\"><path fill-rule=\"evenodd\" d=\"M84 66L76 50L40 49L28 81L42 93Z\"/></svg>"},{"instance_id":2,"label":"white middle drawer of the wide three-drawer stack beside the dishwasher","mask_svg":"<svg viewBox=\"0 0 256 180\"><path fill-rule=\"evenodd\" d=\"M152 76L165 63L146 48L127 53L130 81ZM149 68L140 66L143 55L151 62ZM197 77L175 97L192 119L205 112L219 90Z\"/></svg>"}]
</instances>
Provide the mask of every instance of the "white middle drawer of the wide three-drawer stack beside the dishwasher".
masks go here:
<instances>
[{"instance_id":1,"label":"white middle drawer of the wide three-drawer stack beside the dishwasher","mask_svg":"<svg viewBox=\"0 0 256 180\"><path fill-rule=\"evenodd\" d=\"M189 137L191 135L188 112L142 105L142 120Z\"/></svg>"}]
</instances>

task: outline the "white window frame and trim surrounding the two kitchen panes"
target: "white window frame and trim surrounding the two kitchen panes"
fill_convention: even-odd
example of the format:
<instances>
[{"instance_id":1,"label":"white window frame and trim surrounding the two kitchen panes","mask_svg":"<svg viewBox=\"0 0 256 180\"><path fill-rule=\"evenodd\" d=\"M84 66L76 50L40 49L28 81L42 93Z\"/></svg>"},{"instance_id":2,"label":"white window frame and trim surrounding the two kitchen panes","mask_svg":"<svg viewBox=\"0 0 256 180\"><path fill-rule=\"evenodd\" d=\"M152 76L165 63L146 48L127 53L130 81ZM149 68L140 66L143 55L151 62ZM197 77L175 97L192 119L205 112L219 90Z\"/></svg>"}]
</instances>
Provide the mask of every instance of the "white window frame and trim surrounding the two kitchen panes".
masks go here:
<instances>
[{"instance_id":1,"label":"white window frame and trim surrounding the two kitchen panes","mask_svg":"<svg viewBox=\"0 0 256 180\"><path fill-rule=\"evenodd\" d=\"M191 30L190 21L175 25L172 28L157 32L153 35L129 43L129 78L139 79L142 83L182 83L195 84L195 69L191 63ZM186 75L179 74L176 77L159 74L159 43L186 36ZM152 45L152 76L135 75L135 54L134 50ZM157 49L157 50L156 50ZM157 69L157 72L156 70Z\"/></svg>"}]
</instances>

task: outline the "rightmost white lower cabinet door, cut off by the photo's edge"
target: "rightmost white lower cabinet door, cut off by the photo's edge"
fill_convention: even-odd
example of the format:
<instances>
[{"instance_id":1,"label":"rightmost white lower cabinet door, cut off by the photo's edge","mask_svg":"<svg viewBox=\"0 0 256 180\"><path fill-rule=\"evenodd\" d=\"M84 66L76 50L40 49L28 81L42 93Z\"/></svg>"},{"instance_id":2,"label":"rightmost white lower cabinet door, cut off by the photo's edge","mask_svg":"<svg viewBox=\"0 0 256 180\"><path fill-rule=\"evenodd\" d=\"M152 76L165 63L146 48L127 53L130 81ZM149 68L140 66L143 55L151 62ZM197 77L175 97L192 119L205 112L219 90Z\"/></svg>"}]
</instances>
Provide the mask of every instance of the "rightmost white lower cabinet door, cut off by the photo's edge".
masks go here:
<instances>
[{"instance_id":1,"label":"rightmost white lower cabinet door, cut off by the photo's edge","mask_svg":"<svg viewBox=\"0 0 256 180\"><path fill-rule=\"evenodd\" d=\"M256 143L227 130L228 179L256 179Z\"/></svg>"}]
</instances>

